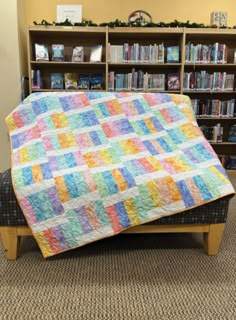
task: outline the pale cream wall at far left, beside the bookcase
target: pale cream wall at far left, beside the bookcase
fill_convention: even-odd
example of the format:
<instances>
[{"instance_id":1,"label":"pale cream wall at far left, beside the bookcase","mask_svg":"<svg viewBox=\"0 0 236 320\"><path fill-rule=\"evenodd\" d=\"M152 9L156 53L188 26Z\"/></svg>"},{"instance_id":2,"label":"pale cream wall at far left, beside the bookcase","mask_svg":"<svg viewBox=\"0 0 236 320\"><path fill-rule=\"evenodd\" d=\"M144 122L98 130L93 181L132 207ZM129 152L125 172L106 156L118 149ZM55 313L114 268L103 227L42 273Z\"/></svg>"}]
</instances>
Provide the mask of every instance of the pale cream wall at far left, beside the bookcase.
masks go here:
<instances>
[{"instance_id":1,"label":"pale cream wall at far left, beside the bookcase","mask_svg":"<svg viewBox=\"0 0 236 320\"><path fill-rule=\"evenodd\" d=\"M0 12L0 172L10 166L5 117L20 101L20 58L17 0L1 0Z\"/></svg>"}]
</instances>

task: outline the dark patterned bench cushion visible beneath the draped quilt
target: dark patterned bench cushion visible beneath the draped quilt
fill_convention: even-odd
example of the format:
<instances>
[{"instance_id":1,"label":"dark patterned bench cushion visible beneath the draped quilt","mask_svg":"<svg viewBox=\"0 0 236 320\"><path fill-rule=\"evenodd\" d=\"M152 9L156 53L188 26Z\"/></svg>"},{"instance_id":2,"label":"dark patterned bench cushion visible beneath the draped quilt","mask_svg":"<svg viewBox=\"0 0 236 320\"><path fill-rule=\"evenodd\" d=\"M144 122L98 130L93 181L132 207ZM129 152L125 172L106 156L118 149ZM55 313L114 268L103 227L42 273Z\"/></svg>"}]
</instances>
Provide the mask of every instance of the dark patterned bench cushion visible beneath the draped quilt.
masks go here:
<instances>
[{"instance_id":1,"label":"dark patterned bench cushion visible beneath the draped quilt","mask_svg":"<svg viewBox=\"0 0 236 320\"><path fill-rule=\"evenodd\" d=\"M148 224L208 224L225 223L230 197L224 197L206 205L164 217ZM15 197L11 182L11 170L0 174L0 226L27 225L25 217Z\"/></svg>"}]
</instances>

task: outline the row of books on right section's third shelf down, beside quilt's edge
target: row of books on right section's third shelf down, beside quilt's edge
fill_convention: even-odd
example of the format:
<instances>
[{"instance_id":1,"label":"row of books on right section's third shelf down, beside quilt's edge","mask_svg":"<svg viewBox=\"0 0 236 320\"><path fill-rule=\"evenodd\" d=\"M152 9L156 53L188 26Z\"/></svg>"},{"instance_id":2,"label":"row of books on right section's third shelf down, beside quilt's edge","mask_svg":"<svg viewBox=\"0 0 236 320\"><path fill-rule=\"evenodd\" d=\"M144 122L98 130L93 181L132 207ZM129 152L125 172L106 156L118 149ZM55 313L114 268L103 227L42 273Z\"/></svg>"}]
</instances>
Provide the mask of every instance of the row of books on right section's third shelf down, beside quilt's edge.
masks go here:
<instances>
[{"instance_id":1,"label":"row of books on right section's third shelf down, beside quilt's edge","mask_svg":"<svg viewBox=\"0 0 236 320\"><path fill-rule=\"evenodd\" d=\"M191 99L197 117L234 117L236 116L235 99Z\"/></svg>"}]
</instances>

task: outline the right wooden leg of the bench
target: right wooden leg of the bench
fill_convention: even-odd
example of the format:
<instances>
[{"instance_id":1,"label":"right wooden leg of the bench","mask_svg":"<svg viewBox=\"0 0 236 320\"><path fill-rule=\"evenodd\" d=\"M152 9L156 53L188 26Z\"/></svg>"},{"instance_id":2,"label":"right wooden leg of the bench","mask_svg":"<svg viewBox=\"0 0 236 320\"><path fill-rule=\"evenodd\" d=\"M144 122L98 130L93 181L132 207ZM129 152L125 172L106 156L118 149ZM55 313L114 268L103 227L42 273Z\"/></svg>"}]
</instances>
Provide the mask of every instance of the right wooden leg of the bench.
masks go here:
<instances>
[{"instance_id":1,"label":"right wooden leg of the bench","mask_svg":"<svg viewBox=\"0 0 236 320\"><path fill-rule=\"evenodd\" d=\"M203 233L204 247L209 256L216 256L220 249L225 223L210 224L209 231Z\"/></svg>"}]
</instances>

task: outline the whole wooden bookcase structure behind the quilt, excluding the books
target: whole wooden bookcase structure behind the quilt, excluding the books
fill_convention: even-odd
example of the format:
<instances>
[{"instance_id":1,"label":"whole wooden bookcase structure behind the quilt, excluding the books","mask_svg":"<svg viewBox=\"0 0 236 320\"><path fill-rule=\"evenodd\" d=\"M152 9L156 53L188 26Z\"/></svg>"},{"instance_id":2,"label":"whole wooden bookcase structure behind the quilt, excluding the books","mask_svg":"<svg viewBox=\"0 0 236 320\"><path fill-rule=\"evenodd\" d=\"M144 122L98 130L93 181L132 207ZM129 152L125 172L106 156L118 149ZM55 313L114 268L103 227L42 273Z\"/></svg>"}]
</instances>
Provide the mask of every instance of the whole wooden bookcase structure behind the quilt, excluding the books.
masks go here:
<instances>
[{"instance_id":1,"label":"whole wooden bookcase structure behind the quilt, excluding the books","mask_svg":"<svg viewBox=\"0 0 236 320\"><path fill-rule=\"evenodd\" d=\"M226 63L187 63L186 45L206 44L212 45L216 42L227 46ZM45 44L49 48L49 61L35 61L35 43ZM164 43L165 49L169 46L179 46L179 61L177 63L166 62L150 63L142 61L120 61L110 62L111 45L130 45L138 43L142 46L150 46ZM51 61L51 45L64 44L65 59L62 62ZM103 53L101 62L89 62L89 52L92 46L102 44ZM72 62L72 50L74 46L84 47L84 62ZM55 91L51 89L52 72L75 72L77 74L99 73L103 75L103 90L108 91L110 72L130 73L132 70L142 69L143 73L178 74L180 87L178 90L168 90L165 85L160 92L181 93L188 95L191 99L218 99L230 100L236 98L236 64L234 55L236 48L236 30L234 29L208 29L208 28L137 28L137 27L57 27L57 26L34 26L28 29L28 68L30 93L35 91ZM40 70L42 86L40 89L32 88L32 71ZM230 73L235 75L234 89L225 90L187 90L184 87L185 73L201 72L202 70L211 74L214 72ZM155 90L147 90L155 91ZM214 126L221 124L223 127L223 141L211 143L219 155L236 155L236 143L228 142L230 126L236 124L235 113L231 117L201 116L198 118L199 125Z\"/></svg>"}]
</instances>

